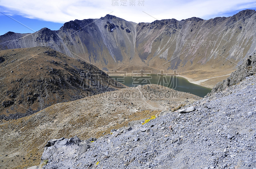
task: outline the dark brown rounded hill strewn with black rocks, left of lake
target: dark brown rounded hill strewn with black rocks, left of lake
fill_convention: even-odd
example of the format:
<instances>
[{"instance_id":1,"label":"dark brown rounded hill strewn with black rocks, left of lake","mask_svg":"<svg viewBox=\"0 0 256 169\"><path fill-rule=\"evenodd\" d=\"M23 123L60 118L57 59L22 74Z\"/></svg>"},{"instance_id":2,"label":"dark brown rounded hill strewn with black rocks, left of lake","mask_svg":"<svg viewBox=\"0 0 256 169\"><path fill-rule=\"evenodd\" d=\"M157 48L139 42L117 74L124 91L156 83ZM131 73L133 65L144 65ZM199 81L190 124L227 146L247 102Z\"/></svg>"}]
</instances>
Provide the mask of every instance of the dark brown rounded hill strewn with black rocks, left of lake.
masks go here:
<instances>
[{"instance_id":1,"label":"dark brown rounded hill strewn with black rocks, left of lake","mask_svg":"<svg viewBox=\"0 0 256 169\"><path fill-rule=\"evenodd\" d=\"M48 47L4 50L0 56L0 119L124 88L97 67Z\"/></svg>"}]
</instances>

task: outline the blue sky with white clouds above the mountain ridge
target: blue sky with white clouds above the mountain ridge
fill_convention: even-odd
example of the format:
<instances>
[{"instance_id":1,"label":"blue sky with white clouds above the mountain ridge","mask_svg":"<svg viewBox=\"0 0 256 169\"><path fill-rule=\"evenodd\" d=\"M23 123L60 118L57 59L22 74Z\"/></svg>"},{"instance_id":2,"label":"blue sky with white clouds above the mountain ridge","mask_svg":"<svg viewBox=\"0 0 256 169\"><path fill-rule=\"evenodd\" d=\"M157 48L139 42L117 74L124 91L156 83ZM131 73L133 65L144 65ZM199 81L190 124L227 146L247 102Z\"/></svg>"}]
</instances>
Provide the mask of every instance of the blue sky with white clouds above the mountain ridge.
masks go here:
<instances>
[{"instance_id":1,"label":"blue sky with white clouds above the mountain ridge","mask_svg":"<svg viewBox=\"0 0 256 169\"><path fill-rule=\"evenodd\" d=\"M70 20L115 15L136 23L161 19L229 17L256 10L256 0L0 0L0 35L58 30Z\"/></svg>"}]
</instances>

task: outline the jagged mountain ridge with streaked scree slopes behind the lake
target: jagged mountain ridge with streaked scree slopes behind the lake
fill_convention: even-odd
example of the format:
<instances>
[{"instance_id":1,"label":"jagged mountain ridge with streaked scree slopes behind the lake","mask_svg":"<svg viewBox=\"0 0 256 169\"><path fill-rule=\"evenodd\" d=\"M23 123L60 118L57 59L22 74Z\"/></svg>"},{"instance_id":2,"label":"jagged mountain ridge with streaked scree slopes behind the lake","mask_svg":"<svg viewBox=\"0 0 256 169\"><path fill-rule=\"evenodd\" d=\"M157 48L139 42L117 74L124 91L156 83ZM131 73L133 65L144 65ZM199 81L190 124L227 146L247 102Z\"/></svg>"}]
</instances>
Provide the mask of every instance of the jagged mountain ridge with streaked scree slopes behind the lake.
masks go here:
<instances>
[{"instance_id":1,"label":"jagged mountain ridge with streaked scree slopes behind the lake","mask_svg":"<svg viewBox=\"0 0 256 169\"><path fill-rule=\"evenodd\" d=\"M176 69L192 80L206 79L201 85L213 87L220 81L218 76L230 74L255 52L255 18L255 10L244 10L227 18L136 24L106 15L69 21L57 31L7 32L0 36L0 49L48 46L110 73L115 69L173 73Z\"/></svg>"}]
</instances>

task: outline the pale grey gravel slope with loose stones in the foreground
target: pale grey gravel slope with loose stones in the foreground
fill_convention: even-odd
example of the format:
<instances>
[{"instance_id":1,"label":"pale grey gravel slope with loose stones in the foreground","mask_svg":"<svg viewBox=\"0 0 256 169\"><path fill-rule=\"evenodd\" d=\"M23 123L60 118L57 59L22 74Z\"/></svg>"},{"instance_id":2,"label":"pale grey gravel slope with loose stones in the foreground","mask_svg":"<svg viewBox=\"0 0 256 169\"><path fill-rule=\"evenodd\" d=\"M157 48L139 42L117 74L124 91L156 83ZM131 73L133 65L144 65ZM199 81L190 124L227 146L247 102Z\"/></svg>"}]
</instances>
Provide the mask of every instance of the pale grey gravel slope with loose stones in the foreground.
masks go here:
<instances>
[{"instance_id":1,"label":"pale grey gravel slope with loose stones in the foreground","mask_svg":"<svg viewBox=\"0 0 256 169\"><path fill-rule=\"evenodd\" d=\"M94 142L50 140L41 167L255 169L255 85L256 76L247 77L188 105L191 112L165 111L144 125L141 121L112 130Z\"/></svg>"}]
</instances>

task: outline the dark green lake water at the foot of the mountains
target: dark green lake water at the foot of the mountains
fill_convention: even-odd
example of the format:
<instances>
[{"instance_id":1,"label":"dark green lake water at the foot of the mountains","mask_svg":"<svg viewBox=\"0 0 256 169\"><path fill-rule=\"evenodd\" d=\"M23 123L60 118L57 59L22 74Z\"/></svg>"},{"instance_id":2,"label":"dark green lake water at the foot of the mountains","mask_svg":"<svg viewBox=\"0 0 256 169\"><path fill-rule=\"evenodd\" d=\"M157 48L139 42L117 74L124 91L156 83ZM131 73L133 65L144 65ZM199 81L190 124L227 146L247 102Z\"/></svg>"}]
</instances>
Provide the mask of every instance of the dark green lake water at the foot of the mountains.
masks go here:
<instances>
[{"instance_id":1,"label":"dark green lake water at the foot of the mountains","mask_svg":"<svg viewBox=\"0 0 256 169\"><path fill-rule=\"evenodd\" d=\"M137 87L138 85L158 84L178 91L192 93L204 97L212 91L211 88L205 88L193 83L187 79L178 76L165 76L160 74L150 74L148 76L110 76L116 81L128 86Z\"/></svg>"}]
</instances>

